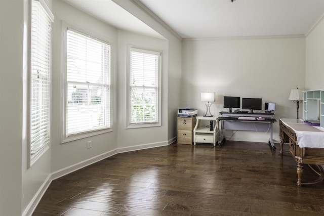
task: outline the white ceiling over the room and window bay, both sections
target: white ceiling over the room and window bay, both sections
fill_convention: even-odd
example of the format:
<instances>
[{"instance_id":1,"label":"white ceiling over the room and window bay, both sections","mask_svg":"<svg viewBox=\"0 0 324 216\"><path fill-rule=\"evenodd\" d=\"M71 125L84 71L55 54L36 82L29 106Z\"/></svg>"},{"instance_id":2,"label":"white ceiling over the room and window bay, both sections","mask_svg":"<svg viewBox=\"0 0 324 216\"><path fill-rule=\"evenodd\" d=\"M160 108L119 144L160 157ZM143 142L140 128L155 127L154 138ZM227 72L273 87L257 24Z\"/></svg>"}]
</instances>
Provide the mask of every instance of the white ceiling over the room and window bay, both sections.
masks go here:
<instances>
[{"instance_id":1,"label":"white ceiling over the room and window bay, both sections","mask_svg":"<svg viewBox=\"0 0 324 216\"><path fill-rule=\"evenodd\" d=\"M115 27L158 36L111 0L63 1ZM140 1L182 38L306 35L324 15L324 0Z\"/></svg>"}]
</instances>

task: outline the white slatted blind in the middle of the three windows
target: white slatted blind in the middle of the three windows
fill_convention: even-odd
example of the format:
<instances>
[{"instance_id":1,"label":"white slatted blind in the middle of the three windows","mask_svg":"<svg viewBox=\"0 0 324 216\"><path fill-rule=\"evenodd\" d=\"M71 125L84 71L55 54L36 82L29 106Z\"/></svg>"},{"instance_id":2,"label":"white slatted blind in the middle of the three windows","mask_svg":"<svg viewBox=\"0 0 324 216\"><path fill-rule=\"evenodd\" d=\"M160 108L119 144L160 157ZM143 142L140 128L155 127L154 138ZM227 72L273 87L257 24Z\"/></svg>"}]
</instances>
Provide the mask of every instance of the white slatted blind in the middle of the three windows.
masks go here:
<instances>
[{"instance_id":1,"label":"white slatted blind in the middle of the three windows","mask_svg":"<svg viewBox=\"0 0 324 216\"><path fill-rule=\"evenodd\" d=\"M110 45L66 34L66 136L110 127Z\"/></svg>"}]
</instances>

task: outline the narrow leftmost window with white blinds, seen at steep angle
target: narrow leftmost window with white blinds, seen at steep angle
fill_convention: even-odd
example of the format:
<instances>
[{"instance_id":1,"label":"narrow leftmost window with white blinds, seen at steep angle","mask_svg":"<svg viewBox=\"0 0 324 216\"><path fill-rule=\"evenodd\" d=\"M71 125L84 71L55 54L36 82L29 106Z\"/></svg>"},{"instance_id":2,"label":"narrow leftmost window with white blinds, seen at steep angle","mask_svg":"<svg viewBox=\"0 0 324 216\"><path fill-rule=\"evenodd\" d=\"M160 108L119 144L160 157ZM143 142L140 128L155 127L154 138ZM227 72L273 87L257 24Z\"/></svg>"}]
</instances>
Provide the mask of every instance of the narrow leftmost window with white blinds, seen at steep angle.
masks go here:
<instances>
[{"instance_id":1,"label":"narrow leftmost window with white blinds, seen at steep angle","mask_svg":"<svg viewBox=\"0 0 324 216\"><path fill-rule=\"evenodd\" d=\"M29 165L50 143L51 23L54 16L44 1L31 2Z\"/></svg>"}]
</instances>

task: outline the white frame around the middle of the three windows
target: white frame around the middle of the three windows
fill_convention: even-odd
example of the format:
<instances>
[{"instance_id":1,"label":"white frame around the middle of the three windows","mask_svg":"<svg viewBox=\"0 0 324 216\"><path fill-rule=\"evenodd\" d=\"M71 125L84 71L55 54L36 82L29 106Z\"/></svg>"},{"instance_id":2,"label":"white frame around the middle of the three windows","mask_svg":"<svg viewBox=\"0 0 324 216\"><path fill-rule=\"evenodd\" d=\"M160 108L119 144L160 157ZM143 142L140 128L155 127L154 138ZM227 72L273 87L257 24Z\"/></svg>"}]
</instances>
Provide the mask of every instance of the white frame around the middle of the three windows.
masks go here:
<instances>
[{"instance_id":1,"label":"white frame around the middle of the three windows","mask_svg":"<svg viewBox=\"0 0 324 216\"><path fill-rule=\"evenodd\" d=\"M112 72L113 72L113 66L112 66L112 43L110 42L109 39L101 39L100 37L97 37L95 34L92 33L88 33L85 30L80 30L78 27L75 27L73 25L68 25L66 24L64 21L62 21L62 27L63 27L63 38L64 38L64 48L63 48L63 71L64 71L64 75L63 75L63 91L62 91L62 98L63 98L63 106L62 106L62 136L61 136L61 144L63 143L68 143L74 140L79 140L79 139L83 139L83 138L87 138L87 137L92 137L92 136L96 136L96 135L100 135L100 134L105 134L108 132L112 132L112 126L113 126L113 119L112 119L112 111L113 111L113 105L112 105L112 97L113 97L113 90L112 90ZM68 81L67 81L67 30L73 30L77 33L83 34L83 35L88 35L91 38L96 38L97 40L104 42L105 44L110 46L110 71L109 71L109 80L108 80L108 94L107 94L107 106L109 109L109 119L110 119L110 125L104 128L98 128L98 129L94 129L91 131L85 131L85 132L79 132L76 134L71 134L68 135L67 134L67 89L68 89Z\"/></svg>"}]
</instances>

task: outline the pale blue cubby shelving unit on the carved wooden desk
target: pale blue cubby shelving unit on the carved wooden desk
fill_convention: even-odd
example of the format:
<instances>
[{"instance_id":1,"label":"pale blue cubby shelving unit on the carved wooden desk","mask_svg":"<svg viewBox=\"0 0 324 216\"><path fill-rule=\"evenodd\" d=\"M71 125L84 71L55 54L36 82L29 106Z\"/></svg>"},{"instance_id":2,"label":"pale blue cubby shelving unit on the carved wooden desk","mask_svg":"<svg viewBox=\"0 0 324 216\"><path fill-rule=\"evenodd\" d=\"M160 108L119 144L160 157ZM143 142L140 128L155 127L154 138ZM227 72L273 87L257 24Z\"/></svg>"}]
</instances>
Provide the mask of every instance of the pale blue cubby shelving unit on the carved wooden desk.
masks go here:
<instances>
[{"instance_id":1,"label":"pale blue cubby shelving unit on the carved wooden desk","mask_svg":"<svg viewBox=\"0 0 324 216\"><path fill-rule=\"evenodd\" d=\"M324 89L303 91L303 119L319 120L324 127Z\"/></svg>"}]
</instances>

